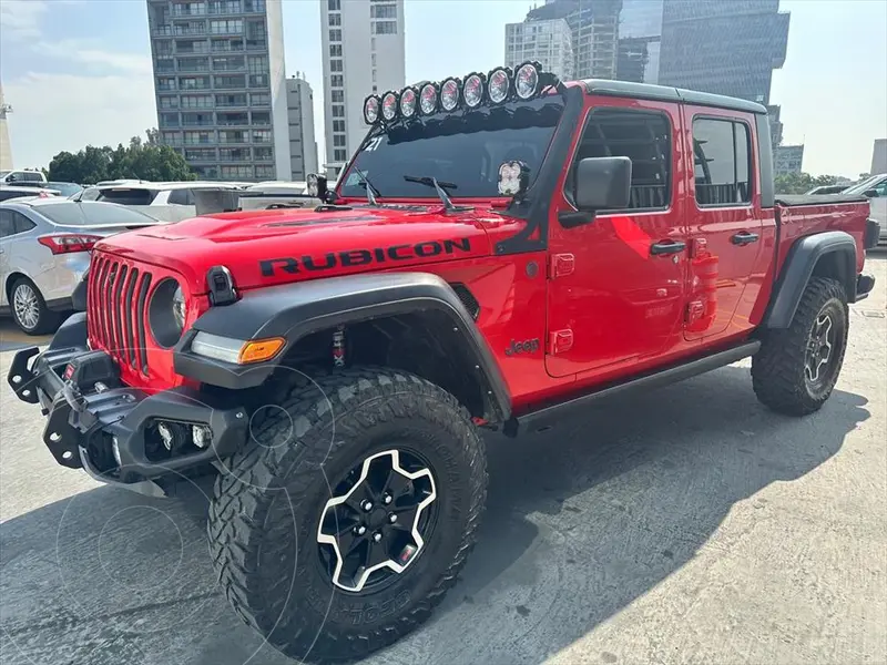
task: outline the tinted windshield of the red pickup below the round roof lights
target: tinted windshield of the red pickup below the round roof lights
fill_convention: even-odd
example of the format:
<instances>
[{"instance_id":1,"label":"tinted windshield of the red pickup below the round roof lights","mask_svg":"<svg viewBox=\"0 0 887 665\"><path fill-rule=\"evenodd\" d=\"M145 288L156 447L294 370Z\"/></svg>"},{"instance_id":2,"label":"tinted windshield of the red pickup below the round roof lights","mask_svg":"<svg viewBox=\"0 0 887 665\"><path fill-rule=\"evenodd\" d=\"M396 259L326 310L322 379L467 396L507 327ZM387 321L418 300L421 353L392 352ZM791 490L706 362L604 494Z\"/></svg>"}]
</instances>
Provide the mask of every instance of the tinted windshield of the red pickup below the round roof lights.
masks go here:
<instances>
[{"instance_id":1,"label":"tinted windshield of the red pickup below the round roof lights","mask_svg":"<svg viewBox=\"0 0 887 665\"><path fill-rule=\"evenodd\" d=\"M520 160L536 180L554 127L563 112L559 95L471 111L438 113L374 130L350 168L339 178L339 195L364 197L360 171L378 196L428 198L435 191L404 176L437 178L455 187L452 197L491 198L498 190L499 166Z\"/></svg>"}]
</instances>

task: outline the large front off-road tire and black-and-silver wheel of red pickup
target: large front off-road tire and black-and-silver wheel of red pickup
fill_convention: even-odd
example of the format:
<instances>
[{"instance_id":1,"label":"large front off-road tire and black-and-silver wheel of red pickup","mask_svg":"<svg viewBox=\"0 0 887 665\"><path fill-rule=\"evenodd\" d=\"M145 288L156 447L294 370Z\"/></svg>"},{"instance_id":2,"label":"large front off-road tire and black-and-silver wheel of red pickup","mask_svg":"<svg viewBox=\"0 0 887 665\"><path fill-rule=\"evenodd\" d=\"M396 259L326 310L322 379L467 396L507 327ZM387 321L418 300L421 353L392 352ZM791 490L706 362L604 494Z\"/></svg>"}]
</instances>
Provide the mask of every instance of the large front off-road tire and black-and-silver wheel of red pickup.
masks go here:
<instances>
[{"instance_id":1,"label":"large front off-road tire and black-and-silver wheel of red pickup","mask_svg":"<svg viewBox=\"0 0 887 665\"><path fill-rule=\"evenodd\" d=\"M349 369L289 381L252 426L210 509L235 612L300 661L359 658L428 618L487 493L483 442L457 400L407 372Z\"/></svg>"}]
</instances>

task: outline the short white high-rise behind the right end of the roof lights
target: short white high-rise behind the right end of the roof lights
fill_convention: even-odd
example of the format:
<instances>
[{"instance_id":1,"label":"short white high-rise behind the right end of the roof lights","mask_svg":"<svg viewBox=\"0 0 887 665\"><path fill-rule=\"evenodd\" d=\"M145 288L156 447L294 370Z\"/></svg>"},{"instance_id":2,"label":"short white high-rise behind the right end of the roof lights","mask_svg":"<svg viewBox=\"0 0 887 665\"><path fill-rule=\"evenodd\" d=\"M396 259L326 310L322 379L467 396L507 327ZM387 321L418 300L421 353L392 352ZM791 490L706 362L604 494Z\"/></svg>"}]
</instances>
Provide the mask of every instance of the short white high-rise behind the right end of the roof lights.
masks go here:
<instances>
[{"instance_id":1,"label":"short white high-rise behind the right end of the roof lights","mask_svg":"<svg viewBox=\"0 0 887 665\"><path fill-rule=\"evenodd\" d=\"M506 24L508 66L537 61L562 81L573 79L573 38L564 19Z\"/></svg>"}]
</instances>

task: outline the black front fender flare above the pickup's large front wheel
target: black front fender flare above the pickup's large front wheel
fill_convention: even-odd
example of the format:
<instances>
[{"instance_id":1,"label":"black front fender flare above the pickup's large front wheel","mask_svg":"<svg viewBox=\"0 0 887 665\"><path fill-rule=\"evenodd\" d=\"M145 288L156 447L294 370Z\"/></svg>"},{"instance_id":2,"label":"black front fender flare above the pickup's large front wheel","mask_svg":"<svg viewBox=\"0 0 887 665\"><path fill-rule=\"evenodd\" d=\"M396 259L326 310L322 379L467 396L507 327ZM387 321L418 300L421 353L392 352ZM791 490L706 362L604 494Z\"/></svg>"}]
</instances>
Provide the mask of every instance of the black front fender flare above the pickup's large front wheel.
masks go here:
<instances>
[{"instance_id":1,"label":"black front fender flare above the pickup's large front wheel","mask_svg":"<svg viewBox=\"0 0 887 665\"><path fill-rule=\"evenodd\" d=\"M194 321L175 347L175 371L211 386L255 388L306 335L424 310L446 315L473 364L466 371L479 375L492 413L507 420L511 397L483 336L450 285L428 273L353 275L248 290L236 303L212 307ZM191 342L200 331L243 340L283 337L286 346L272 360L237 366L195 355Z\"/></svg>"}]
</instances>

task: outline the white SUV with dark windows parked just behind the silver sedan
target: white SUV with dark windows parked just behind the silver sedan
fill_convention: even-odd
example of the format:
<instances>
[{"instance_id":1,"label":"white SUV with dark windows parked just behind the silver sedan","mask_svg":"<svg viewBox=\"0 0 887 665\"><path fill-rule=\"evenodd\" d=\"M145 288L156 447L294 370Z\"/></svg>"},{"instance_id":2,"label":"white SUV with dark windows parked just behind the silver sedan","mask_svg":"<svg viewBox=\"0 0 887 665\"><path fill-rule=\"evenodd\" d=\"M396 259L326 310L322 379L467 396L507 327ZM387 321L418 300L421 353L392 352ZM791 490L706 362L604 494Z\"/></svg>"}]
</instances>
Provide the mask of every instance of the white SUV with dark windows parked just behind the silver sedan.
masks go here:
<instances>
[{"instance_id":1,"label":"white SUV with dark windows parked just behind the silver sedan","mask_svg":"<svg viewBox=\"0 0 887 665\"><path fill-rule=\"evenodd\" d=\"M213 182L119 182L86 187L73 201L105 201L125 205L163 222L180 222L197 214L194 192L197 190L236 190L233 183Z\"/></svg>"}]
</instances>

